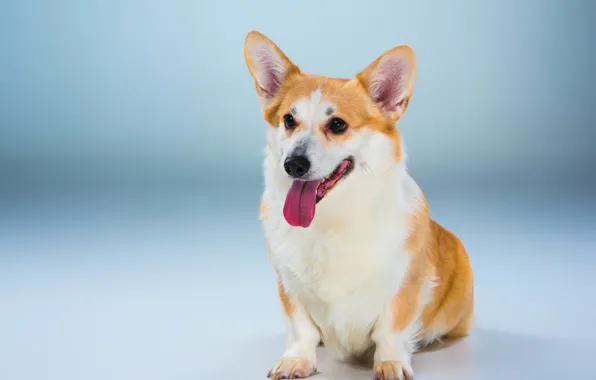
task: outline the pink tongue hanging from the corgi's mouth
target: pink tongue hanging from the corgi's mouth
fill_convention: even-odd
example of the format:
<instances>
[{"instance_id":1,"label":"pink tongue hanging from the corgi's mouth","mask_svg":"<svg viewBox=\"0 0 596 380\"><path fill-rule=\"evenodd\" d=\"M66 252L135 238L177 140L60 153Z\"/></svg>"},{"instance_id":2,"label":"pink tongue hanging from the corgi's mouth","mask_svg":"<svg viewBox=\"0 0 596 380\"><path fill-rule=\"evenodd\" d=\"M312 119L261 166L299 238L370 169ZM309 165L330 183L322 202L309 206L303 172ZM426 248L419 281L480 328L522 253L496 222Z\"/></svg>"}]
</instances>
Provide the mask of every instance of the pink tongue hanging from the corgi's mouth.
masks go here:
<instances>
[{"instance_id":1,"label":"pink tongue hanging from the corgi's mouth","mask_svg":"<svg viewBox=\"0 0 596 380\"><path fill-rule=\"evenodd\" d=\"M315 217L317 203L317 181L294 181L284 205L284 217L289 225L294 227L308 227Z\"/></svg>"}]
</instances>

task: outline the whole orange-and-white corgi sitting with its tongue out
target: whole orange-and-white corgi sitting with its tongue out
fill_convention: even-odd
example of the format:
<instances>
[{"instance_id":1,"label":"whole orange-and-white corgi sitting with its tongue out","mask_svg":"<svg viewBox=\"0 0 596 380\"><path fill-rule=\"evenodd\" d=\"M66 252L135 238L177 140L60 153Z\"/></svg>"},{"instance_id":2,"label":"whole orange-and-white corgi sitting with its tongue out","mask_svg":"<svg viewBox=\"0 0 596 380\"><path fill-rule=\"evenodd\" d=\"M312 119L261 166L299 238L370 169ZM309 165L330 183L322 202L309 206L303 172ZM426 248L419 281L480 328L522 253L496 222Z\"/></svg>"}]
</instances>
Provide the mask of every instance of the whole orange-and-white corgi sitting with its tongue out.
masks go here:
<instances>
[{"instance_id":1,"label":"whole orange-and-white corgi sitting with its tongue out","mask_svg":"<svg viewBox=\"0 0 596 380\"><path fill-rule=\"evenodd\" d=\"M396 128L413 50L351 79L302 72L257 31L243 52L268 125L259 213L288 330L267 377L316 374L321 344L369 357L374 379L411 379L417 349L468 335L474 303L466 250L431 219Z\"/></svg>"}]
</instances>

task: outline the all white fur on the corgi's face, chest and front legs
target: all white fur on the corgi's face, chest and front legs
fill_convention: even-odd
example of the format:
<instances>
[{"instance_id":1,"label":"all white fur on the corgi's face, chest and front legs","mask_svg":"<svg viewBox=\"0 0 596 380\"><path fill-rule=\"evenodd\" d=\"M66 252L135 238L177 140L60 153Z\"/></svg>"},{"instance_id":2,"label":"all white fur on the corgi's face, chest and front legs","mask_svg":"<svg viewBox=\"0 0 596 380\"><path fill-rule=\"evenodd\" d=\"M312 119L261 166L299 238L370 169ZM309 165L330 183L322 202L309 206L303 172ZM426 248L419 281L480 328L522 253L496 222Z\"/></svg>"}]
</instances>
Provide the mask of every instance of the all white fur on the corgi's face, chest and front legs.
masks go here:
<instances>
[{"instance_id":1,"label":"all white fur on the corgi's face, chest and front legs","mask_svg":"<svg viewBox=\"0 0 596 380\"><path fill-rule=\"evenodd\" d=\"M300 120L317 125L318 115L329 106L333 105L315 92L300 99L296 110ZM395 360L409 366L419 323L414 320L399 334L392 333L387 303L400 289L408 269L407 219L422 193L407 173L405 159L398 165L387 160L391 142L383 134L362 130L336 157L317 150L320 145L311 142L312 165L325 168L320 177L348 153L359 164L317 205L316 218L307 229L290 227L282 212L291 184L282 162L293 144L283 128L268 131L263 200L270 212L263 226L273 265L284 288L298 301L288 320L290 338L284 357L315 363L315 348L323 338L327 349L341 359L362 354L374 343L375 361ZM303 138L300 134L289 140Z\"/></svg>"}]
</instances>

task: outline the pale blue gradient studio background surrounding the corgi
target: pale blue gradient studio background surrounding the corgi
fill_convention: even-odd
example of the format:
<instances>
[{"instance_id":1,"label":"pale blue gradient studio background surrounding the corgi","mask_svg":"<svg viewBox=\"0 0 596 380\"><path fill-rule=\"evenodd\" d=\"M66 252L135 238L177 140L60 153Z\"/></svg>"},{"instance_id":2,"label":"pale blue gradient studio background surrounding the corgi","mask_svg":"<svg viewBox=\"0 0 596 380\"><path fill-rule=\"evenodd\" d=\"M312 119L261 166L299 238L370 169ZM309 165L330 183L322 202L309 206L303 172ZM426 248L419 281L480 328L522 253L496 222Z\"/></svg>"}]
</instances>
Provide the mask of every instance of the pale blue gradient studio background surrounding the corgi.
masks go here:
<instances>
[{"instance_id":1,"label":"pale blue gradient studio background surrounding the corgi","mask_svg":"<svg viewBox=\"0 0 596 380\"><path fill-rule=\"evenodd\" d=\"M588 376L556 349L491 358L596 337L595 19L589 0L1 1L0 378L253 379L281 354L251 29L329 76L414 48L399 127L470 252L474 352L495 377ZM486 368L463 357L458 378Z\"/></svg>"}]
</instances>

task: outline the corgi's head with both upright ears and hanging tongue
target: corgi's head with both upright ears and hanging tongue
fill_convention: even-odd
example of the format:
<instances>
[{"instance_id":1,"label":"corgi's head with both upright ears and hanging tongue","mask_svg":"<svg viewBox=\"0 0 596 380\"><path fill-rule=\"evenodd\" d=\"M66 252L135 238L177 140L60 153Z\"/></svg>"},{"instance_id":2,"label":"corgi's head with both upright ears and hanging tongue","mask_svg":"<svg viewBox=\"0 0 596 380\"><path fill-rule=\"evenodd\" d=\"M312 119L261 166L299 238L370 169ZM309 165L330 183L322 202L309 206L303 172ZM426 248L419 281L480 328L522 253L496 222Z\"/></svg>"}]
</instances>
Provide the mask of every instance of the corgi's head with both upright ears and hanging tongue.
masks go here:
<instances>
[{"instance_id":1,"label":"corgi's head with both upright ears and hanging tongue","mask_svg":"<svg viewBox=\"0 0 596 380\"><path fill-rule=\"evenodd\" d=\"M402 159L395 123L412 95L416 63L395 47L352 79L303 73L269 38L250 32L244 58L271 126L268 144L287 181L284 216L308 227L316 203L349 187L350 173L382 172Z\"/></svg>"}]
</instances>

